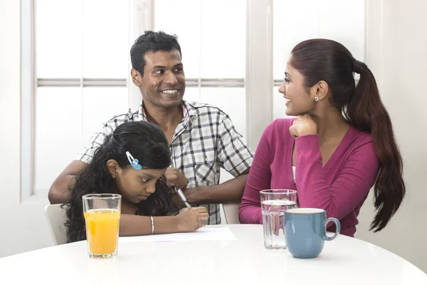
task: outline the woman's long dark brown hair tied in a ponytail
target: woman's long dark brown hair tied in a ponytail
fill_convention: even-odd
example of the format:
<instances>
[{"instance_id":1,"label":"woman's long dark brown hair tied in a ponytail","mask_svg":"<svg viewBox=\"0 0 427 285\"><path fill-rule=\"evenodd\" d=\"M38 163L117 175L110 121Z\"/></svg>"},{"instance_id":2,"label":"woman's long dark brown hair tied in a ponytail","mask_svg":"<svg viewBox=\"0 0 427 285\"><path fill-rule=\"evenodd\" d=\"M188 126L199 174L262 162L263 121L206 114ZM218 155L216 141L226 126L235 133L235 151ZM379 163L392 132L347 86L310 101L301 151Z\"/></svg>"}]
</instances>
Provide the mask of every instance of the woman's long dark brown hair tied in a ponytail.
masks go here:
<instances>
[{"instance_id":1,"label":"woman's long dark brown hair tied in a ponytail","mask_svg":"<svg viewBox=\"0 0 427 285\"><path fill-rule=\"evenodd\" d=\"M325 81L332 91L331 103L342 111L349 124L371 133L379 172L374 185L376 215L370 229L374 232L384 229L399 209L406 187L401 153L374 75L341 43L322 38L297 44L291 52L290 64L304 76L305 88ZM354 72L360 74L357 86Z\"/></svg>"}]
</instances>

